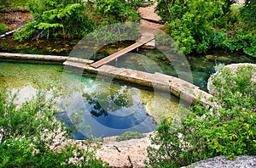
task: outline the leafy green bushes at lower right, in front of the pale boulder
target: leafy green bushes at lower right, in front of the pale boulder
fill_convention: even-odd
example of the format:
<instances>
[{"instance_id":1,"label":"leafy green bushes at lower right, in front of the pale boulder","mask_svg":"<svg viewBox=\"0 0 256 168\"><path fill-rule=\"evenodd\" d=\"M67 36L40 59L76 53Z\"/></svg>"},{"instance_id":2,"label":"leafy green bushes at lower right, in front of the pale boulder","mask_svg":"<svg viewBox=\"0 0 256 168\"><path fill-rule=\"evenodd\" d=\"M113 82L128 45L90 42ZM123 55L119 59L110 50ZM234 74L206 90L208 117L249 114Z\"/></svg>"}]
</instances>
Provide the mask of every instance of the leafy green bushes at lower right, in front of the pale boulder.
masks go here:
<instances>
[{"instance_id":1,"label":"leafy green bushes at lower right, in front of the pale boulder","mask_svg":"<svg viewBox=\"0 0 256 168\"><path fill-rule=\"evenodd\" d=\"M152 137L157 148L148 148L148 166L179 167L199 160L225 155L256 154L256 83L250 80L255 68L241 67L232 75L221 69L214 76L217 94L214 108L195 105L183 120L165 119Z\"/></svg>"}]
</instances>

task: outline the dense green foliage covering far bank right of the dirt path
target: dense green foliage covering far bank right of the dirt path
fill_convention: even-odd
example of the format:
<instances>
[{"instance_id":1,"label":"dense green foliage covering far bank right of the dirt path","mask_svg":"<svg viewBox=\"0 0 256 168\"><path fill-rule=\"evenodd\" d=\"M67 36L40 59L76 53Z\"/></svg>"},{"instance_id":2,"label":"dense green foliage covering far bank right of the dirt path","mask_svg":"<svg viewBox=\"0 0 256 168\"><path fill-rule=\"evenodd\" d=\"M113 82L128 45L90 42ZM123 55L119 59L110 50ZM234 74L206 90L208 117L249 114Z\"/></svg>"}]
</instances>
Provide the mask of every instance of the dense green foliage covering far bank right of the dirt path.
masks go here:
<instances>
[{"instance_id":1,"label":"dense green foliage covering far bank right of the dirt path","mask_svg":"<svg viewBox=\"0 0 256 168\"><path fill-rule=\"evenodd\" d=\"M230 10L238 7L230 6L232 0L159 0L156 11L183 53L224 48L256 56L253 2L248 0L241 14Z\"/></svg>"}]
</instances>

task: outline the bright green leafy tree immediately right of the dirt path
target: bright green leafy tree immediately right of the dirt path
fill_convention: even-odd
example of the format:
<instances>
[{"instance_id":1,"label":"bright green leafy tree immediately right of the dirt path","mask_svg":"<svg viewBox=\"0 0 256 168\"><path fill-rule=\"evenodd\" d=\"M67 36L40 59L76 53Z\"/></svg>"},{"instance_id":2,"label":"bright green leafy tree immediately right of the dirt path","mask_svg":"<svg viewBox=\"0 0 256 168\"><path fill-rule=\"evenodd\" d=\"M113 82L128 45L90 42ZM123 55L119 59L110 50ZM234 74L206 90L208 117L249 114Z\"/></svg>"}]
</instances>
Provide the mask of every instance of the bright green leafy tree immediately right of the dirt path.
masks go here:
<instances>
[{"instance_id":1,"label":"bright green leafy tree immediately right of the dirt path","mask_svg":"<svg viewBox=\"0 0 256 168\"><path fill-rule=\"evenodd\" d=\"M156 11L167 22L173 40L183 53L206 53L217 27L229 11L230 1L160 0Z\"/></svg>"}]
</instances>

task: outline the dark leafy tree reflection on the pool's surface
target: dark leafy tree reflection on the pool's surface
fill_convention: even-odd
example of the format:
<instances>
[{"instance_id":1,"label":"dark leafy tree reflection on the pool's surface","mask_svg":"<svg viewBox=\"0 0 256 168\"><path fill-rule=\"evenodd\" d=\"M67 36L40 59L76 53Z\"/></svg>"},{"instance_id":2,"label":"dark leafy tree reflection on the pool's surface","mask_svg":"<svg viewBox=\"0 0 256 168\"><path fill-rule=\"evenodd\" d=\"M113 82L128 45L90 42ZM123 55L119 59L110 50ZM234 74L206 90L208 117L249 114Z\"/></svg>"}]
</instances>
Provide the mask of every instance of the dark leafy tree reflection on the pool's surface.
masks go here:
<instances>
[{"instance_id":1,"label":"dark leafy tree reflection on the pool's surface","mask_svg":"<svg viewBox=\"0 0 256 168\"><path fill-rule=\"evenodd\" d=\"M108 115L108 111L115 111L123 107L131 106L131 98L128 97L127 92L126 87L120 87L119 89L112 89L109 95L106 92L98 94L96 92L84 92L83 97L88 104L92 105L90 114L99 117Z\"/></svg>"}]
</instances>

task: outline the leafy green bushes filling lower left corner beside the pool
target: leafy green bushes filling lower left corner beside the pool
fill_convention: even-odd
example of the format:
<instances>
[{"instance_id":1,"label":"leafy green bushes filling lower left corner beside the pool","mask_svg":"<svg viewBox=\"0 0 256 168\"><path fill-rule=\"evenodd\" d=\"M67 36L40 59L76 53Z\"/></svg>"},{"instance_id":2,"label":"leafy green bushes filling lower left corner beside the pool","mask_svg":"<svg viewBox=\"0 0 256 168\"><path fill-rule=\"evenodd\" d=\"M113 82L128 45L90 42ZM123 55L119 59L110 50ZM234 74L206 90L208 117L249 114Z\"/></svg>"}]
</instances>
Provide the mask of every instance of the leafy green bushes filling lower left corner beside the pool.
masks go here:
<instances>
[{"instance_id":1,"label":"leafy green bushes filling lower left corner beside the pool","mask_svg":"<svg viewBox=\"0 0 256 168\"><path fill-rule=\"evenodd\" d=\"M106 166L90 141L67 142L69 131L55 120L44 92L21 105L14 102L0 88L0 167Z\"/></svg>"}]
</instances>

